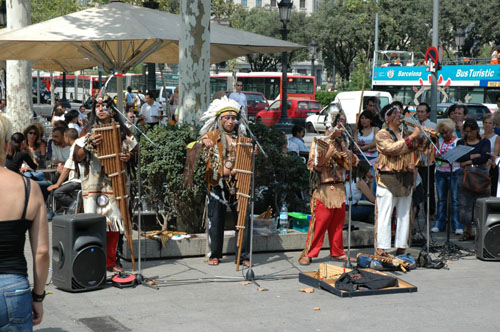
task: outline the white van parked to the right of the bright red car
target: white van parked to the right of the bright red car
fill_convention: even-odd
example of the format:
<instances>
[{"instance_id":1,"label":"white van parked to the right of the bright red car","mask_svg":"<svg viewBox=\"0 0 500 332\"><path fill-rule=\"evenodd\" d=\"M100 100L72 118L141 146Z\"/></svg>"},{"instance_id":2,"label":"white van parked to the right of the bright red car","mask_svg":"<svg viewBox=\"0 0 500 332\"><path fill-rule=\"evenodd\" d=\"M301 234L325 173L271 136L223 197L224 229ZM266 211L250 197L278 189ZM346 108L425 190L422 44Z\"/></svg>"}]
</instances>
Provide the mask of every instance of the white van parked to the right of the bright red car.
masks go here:
<instances>
[{"instance_id":1,"label":"white van parked to the right of the bright red car","mask_svg":"<svg viewBox=\"0 0 500 332\"><path fill-rule=\"evenodd\" d=\"M392 103L391 94L385 91L364 91L363 104L361 105L361 108L361 91L339 92L335 96L335 100L333 102L340 104L347 116L347 123L354 124L356 123L356 116L363 112L365 109L364 105L370 97L377 97L379 101L379 110L381 110L385 105Z\"/></svg>"}]
</instances>

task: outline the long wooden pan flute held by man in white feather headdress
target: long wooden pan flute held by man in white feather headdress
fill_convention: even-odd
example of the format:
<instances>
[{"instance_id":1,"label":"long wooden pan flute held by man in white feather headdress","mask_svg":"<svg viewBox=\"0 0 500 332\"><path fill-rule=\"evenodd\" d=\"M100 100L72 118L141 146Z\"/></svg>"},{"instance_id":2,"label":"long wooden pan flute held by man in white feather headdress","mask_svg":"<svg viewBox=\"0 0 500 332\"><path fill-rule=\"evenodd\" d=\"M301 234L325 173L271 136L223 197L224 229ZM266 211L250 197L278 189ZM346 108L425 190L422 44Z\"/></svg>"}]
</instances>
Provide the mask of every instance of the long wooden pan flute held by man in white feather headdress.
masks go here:
<instances>
[{"instance_id":1,"label":"long wooden pan flute held by man in white feather headdress","mask_svg":"<svg viewBox=\"0 0 500 332\"><path fill-rule=\"evenodd\" d=\"M250 198L250 185L252 182L252 140L247 137L238 138L236 143L236 163L234 171L236 172L236 197L238 199L238 257L236 260L236 271L240 267L241 249L243 247L243 235L245 234L245 221L247 217L248 199Z\"/></svg>"}]
</instances>

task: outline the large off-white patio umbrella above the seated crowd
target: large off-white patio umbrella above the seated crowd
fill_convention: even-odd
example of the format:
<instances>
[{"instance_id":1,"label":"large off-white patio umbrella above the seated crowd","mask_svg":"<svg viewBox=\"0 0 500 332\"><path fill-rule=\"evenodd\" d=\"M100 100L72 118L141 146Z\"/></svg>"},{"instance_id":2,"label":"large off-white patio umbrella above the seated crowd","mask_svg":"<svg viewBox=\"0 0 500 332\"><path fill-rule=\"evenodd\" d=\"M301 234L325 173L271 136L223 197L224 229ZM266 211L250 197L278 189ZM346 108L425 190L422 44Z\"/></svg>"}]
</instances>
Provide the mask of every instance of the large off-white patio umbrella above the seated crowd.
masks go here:
<instances>
[{"instance_id":1,"label":"large off-white patio umbrella above the seated crowd","mask_svg":"<svg viewBox=\"0 0 500 332\"><path fill-rule=\"evenodd\" d=\"M0 60L48 61L51 65L69 61L72 71L88 68L86 62L91 62L117 73L125 73L142 62L178 63L181 23L179 15L114 1L0 33ZM210 25L211 63L250 53L303 47L215 23ZM77 68L78 59L84 60L82 68ZM120 78L117 88L121 104Z\"/></svg>"}]
</instances>

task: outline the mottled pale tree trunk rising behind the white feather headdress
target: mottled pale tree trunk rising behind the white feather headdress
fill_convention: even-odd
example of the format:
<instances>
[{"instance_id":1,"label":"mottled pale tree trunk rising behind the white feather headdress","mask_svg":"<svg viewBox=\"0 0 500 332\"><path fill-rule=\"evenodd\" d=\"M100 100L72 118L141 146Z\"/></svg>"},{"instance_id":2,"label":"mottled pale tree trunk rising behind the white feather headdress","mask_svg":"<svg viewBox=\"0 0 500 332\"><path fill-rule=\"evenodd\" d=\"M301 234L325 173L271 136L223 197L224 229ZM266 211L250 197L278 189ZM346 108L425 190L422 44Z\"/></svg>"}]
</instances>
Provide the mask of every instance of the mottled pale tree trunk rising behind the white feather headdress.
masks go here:
<instances>
[{"instance_id":1,"label":"mottled pale tree trunk rising behind the white feather headdress","mask_svg":"<svg viewBox=\"0 0 500 332\"><path fill-rule=\"evenodd\" d=\"M180 1L179 122L196 124L210 96L210 0Z\"/></svg>"}]
</instances>

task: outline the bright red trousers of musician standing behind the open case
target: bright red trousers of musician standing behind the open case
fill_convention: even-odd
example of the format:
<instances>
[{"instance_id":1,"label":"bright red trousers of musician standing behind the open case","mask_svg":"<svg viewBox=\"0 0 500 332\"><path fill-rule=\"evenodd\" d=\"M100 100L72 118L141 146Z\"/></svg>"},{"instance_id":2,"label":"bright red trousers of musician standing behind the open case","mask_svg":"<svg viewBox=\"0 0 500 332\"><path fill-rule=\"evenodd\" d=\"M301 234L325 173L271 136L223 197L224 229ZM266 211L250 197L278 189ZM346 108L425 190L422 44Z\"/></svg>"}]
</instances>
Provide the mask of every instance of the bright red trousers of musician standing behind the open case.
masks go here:
<instances>
[{"instance_id":1,"label":"bright red trousers of musician standing behind the open case","mask_svg":"<svg viewBox=\"0 0 500 332\"><path fill-rule=\"evenodd\" d=\"M312 213L315 216L315 223L309 224L309 231L307 233L307 243L309 237L313 236L311 248L307 252L308 257L318 257L325 232L328 231L328 241L330 242L330 256L342 256L344 252L344 240L342 238L342 228L344 227L345 220L345 203L340 208L328 209L323 203L316 200L316 207ZM312 229L314 227L314 229Z\"/></svg>"}]
</instances>

